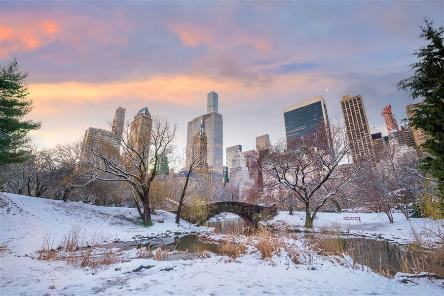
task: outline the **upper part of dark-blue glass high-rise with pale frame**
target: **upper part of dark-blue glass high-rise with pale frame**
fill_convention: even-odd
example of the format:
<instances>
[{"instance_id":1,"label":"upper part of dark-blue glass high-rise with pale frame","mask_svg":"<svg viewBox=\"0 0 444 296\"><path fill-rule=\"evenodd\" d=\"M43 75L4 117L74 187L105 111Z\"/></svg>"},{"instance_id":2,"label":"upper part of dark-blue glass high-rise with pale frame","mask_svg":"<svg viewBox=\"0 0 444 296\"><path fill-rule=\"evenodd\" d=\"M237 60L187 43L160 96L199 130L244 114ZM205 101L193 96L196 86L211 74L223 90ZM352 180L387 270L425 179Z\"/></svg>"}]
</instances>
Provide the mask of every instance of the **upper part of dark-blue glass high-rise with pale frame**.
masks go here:
<instances>
[{"instance_id":1,"label":"upper part of dark-blue glass high-rise with pale frame","mask_svg":"<svg viewBox=\"0 0 444 296\"><path fill-rule=\"evenodd\" d=\"M283 111L287 143L328 129L329 116L322 96L285 107Z\"/></svg>"}]
</instances>

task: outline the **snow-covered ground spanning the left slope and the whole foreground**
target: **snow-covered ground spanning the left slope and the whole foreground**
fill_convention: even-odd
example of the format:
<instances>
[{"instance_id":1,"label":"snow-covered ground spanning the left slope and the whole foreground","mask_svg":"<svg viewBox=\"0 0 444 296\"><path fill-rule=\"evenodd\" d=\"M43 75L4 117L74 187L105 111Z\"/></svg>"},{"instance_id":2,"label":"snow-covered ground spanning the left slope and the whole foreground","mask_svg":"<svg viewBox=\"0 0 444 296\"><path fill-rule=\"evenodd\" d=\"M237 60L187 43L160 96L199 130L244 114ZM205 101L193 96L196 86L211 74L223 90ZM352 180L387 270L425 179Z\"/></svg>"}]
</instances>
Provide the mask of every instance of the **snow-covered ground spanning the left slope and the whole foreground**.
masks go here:
<instances>
[{"instance_id":1,"label":"snow-covered ground spanning the left slope and the whole foreground","mask_svg":"<svg viewBox=\"0 0 444 296\"><path fill-rule=\"evenodd\" d=\"M84 233L101 233L110 240L208 228L189 230L187 222L177 226L174 215L162 211L153 216L153 226L143 227L131 222L138 216L136 209L63 203L14 194L0 193L0 207L1 296L443 295L444 292L443 281L421 278L413 280L418 284L403 284L373 272L342 266L340 260L314 256L310 264L295 264L285 253L264 260L254 250L238 259L226 256L173 261L130 259L94 270L74 267L64 260L37 259L45 235L50 232L51 239L57 242L71 225L82 225ZM156 222L160 220L164 222ZM300 242L295 240L295 244Z\"/></svg>"}]
</instances>

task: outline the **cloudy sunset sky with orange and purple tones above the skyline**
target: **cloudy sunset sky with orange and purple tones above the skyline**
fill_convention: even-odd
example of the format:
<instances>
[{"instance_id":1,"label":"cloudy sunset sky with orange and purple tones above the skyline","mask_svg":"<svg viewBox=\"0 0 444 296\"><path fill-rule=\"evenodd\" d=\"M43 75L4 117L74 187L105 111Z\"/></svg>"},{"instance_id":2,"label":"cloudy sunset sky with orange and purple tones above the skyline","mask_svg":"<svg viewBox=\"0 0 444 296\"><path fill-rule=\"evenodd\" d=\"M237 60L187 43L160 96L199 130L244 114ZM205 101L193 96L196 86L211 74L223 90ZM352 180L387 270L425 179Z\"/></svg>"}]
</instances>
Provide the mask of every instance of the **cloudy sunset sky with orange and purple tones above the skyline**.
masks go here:
<instances>
[{"instance_id":1,"label":"cloudy sunset sky with orange and purple tones above the skyline","mask_svg":"<svg viewBox=\"0 0 444 296\"><path fill-rule=\"evenodd\" d=\"M144 107L186 124L219 94L224 148L284 138L282 109L322 95L343 121L342 96L362 95L373 132L381 111L401 125L414 102L408 77L423 19L443 24L444 1L7 1L0 2L1 64L27 71L41 147L110 129Z\"/></svg>"}]
</instances>

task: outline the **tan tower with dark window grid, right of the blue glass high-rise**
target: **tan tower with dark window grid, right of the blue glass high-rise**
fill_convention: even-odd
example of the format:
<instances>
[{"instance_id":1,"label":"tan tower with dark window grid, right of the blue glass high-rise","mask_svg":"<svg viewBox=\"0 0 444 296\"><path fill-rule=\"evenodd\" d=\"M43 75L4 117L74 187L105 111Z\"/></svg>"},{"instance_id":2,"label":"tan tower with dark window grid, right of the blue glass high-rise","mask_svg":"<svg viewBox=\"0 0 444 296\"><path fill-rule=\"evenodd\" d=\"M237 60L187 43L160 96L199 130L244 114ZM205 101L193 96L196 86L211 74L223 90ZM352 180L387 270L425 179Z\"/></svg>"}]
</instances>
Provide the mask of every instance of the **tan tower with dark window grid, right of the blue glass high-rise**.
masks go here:
<instances>
[{"instance_id":1,"label":"tan tower with dark window grid, right of the blue glass high-rise","mask_svg":"<svg viewBox=\"0 0 444 296\"><path fill-rule=\"evenodd\" d=\"M351 147L353 163L357 163L360 159L373 154L373 142L366 109L361 96L350 97L350 95L342 97L341 107L347 136L353 143Z\"/></svg>"}]
</instances>

